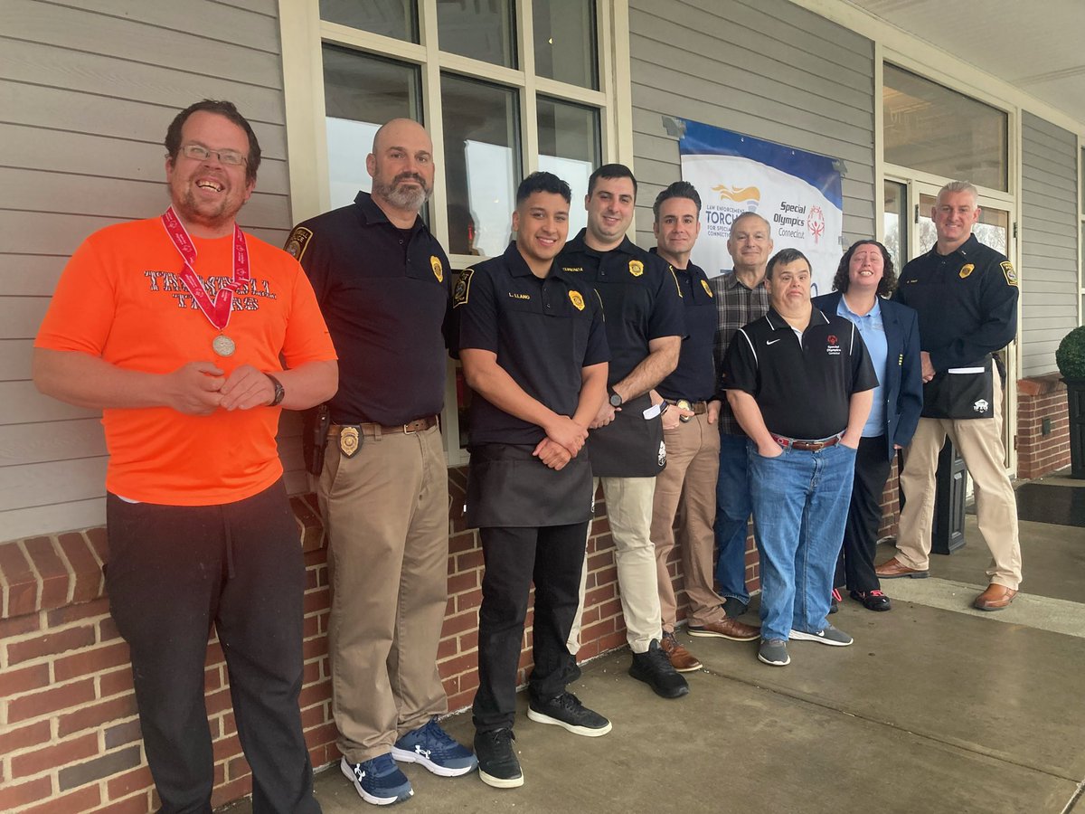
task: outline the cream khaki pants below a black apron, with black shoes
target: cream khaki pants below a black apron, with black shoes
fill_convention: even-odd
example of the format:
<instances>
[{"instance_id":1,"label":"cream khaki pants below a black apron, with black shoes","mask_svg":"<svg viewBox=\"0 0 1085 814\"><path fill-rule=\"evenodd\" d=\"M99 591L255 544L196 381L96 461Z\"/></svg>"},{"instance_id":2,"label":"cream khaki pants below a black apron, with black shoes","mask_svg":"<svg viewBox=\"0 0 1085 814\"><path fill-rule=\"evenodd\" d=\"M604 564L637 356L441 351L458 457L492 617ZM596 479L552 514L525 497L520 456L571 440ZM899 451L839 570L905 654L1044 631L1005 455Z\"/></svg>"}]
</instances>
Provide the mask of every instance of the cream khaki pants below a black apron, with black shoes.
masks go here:
<instances>
[{"instance_id":1,"label":"cream khaki pants below a black apron, with black shoes","mask_svg":"<svg viewBox=\"0 0 1085 814\"><path fill-rule=\"evenodd\" d=\"M655 576L655 547L652 545L652 494L654 478L596 478L592 488L603 485L607 518L614 538L614 564L625 616L626 639L635 653L648 652L653 639L662 637L660 627L660 593ZM588 524L588 534L591 525ZM587 540L585 540L585 545ZM573 629L569 635L569 651L580 649L580 620L588 584L588 560L584 559L580 574L580 605L576 609Z\"/></svg>"}]
</instances>

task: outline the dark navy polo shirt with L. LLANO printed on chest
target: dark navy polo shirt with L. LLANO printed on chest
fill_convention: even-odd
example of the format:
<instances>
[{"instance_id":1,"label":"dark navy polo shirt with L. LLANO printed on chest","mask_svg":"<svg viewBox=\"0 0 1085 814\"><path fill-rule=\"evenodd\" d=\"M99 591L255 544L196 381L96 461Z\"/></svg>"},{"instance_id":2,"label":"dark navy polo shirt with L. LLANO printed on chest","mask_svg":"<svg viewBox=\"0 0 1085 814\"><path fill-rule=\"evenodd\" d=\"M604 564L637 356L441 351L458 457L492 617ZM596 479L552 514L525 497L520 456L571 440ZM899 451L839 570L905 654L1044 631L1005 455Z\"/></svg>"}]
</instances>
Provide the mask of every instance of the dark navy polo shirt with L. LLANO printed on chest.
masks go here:
<instances>
[{"instance_id":1,"label":"dark navy polo shirt with L. LLANO printed on chest","mask_svg":"<svg viewBox=\"0 0 1085 814\"><path fill-rule=\"evenodd\" d=\"M557 264L536 277L515 242L460 275L455 308L460 348L497 354L520 387L560 416L579 404L583 369L609 361L599 296ZM538 444L546 432L474 394L471 444Z\"/></svg>"}]
</instances>

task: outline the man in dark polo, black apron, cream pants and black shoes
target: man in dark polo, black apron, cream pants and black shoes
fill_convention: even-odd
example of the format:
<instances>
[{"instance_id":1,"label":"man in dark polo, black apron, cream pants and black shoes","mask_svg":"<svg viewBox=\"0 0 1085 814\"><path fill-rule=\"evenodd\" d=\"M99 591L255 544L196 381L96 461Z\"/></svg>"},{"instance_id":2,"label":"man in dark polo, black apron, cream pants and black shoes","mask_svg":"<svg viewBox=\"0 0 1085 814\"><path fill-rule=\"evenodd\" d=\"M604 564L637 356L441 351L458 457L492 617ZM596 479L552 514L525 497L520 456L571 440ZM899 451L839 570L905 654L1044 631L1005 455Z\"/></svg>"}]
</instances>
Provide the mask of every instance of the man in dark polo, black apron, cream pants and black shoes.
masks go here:
<instances>
[{"instance_id":1,"label":"man in dark polo, black apron, cream pants and black shoes","mask_svg":"<svg viewBox=\"0 0 1085 814\"><path fill-rule=\"evenodd\" d=\"M685 335L678 282L669 266L625 236L633 222L637 179L622 164L605 164L588 179L588 226L565 246L558 265L593 285L608 314L609 398L591 422L591 471L602 482L614 538L614 562L629 674L664 698L689 692L660 647L660 594L652 545L655 475L666 465L660 405L649 391L678 364ZM580 606L587 568L580 582ZM571 646L579 647L579 619Z\"/></svg>"}]
</instances>

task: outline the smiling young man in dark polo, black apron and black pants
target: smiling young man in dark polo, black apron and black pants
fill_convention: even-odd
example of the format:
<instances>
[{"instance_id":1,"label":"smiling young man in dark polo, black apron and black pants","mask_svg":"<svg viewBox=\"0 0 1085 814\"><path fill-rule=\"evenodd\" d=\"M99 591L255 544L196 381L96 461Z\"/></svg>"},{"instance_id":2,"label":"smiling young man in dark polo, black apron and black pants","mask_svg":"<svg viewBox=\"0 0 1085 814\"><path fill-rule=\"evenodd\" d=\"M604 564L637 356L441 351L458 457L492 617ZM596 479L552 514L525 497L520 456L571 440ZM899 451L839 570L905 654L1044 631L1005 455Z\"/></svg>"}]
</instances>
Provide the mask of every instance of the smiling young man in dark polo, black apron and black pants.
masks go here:
<instances>
[{"instance_id":1,"label":"smiling young man in dark polo, black apron and black pants","mask_svg":"<svg viewBox=\"0 0 1085 814\"><path fill-rule=\"evenodd\" d=\"M475 752L483 781L497 788L524 781L512 724L532 582L527 716L589 737L611 729L565 690L579 675L566 639L592 509L583 446L605 398L610 355L599 297L553 265L569 234L571 198L550 173L525 178L512 216L515 242L464 270L456 288L460 358L475 392L468 524L478 527L486 560Z\"/></svg>"}]
</instances>

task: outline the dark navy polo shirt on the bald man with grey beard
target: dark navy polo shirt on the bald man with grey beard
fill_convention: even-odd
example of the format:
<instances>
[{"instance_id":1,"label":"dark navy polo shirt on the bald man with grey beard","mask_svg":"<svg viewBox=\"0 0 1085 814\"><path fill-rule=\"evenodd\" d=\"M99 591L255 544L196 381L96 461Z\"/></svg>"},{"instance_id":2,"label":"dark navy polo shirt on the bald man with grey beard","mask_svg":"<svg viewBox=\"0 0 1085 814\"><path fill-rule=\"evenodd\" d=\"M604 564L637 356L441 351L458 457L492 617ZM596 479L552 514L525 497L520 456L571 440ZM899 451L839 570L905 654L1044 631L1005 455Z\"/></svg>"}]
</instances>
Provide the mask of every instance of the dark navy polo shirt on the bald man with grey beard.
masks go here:
<instances>
[{"instance_id":1,"label":"dark navy polo shirt on the bald man with grey beard","mask_svg":"<svg viewBox=\"0 0 1085 814\"><path fill-rule=\"evenodd\" d=\"M367 192L294 228L286 251L317 293L340 354L333 423L403 424L445 403L445 251L421 218L397 229Z\"/></svg>"}]
</instances>

